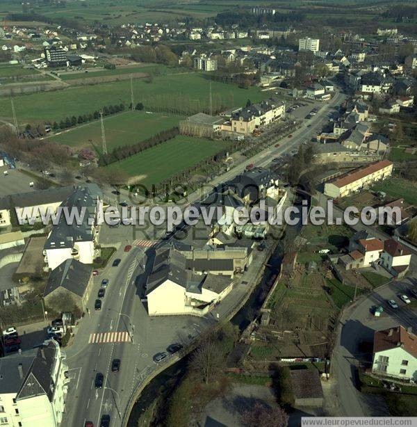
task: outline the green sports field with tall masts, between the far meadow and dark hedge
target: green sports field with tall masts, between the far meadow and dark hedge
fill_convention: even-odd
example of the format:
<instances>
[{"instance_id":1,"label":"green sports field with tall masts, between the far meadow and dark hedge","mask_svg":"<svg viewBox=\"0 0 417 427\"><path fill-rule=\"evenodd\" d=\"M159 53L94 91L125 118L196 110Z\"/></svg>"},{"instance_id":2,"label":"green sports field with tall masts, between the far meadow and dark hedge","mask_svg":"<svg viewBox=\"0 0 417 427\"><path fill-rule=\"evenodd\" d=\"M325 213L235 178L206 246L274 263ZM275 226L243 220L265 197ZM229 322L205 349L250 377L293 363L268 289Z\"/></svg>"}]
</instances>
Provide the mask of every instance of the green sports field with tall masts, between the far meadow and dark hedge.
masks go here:
<instances>
[{"instance_id":1,"label":"green sports field with tall masts, between the far meadow and dark hedge","mask_svg":"<svg viewBox=\"0 0 417 427\"><path fill-rule=\"evenodd\" d=\"M144 111L126 111L104 118L106 145L109 151L120 145L129 145L145 140L165 129L178 125L181 117L161 113L147 114ZM99 120L63 131L48 138L56 143L83 147L101 148L101 123Z\"/></svg>"}]
</instances>

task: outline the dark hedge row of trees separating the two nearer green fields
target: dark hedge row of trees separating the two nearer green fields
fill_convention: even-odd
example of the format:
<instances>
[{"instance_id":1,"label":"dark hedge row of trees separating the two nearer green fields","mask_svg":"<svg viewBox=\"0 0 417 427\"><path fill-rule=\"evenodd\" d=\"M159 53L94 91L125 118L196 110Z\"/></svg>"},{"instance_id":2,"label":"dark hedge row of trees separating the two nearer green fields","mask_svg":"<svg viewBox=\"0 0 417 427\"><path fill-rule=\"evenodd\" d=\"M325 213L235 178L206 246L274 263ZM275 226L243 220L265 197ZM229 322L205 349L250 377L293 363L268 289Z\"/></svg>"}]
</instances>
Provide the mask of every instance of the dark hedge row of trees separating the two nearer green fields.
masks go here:
<instances>
[{"instance_id":1,"label":"dark hedge row of trees separating the two nearer green fields","mask_svg":"<svg viewBox=\"0 0 417 427\"><path fill-rule=\"evenodd\" d=\"M147 150L148 148L155 147L155 145L165 143L167 140L175 138L177 135L179 135L179 128L172 127L171 129L158 132L158 134L155 134L150 138L142 140L136 144L115 147L111 153L101 155L99 164L101 166L106 166L110 163L114 163L115 161L126 159L127 157L138 154L144 150Z\"/></svg>"}]
</instances>

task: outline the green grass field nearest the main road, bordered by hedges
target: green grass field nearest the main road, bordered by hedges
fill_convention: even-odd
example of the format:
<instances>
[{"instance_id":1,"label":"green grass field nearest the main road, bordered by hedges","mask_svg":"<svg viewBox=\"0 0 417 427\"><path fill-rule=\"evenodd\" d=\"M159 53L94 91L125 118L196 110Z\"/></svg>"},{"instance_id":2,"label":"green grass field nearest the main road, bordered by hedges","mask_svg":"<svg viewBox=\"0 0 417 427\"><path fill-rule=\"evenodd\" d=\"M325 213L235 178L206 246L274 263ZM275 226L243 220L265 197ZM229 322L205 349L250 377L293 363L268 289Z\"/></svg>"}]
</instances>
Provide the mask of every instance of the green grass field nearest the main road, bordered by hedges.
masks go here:
<instances>
[{"instance_id":1,"label":"green grass field nearest the main road, bordered by hedges","mask_svg":"<svg viewBox=\"0 0 417 427\"><path fill-rule=\"evenodd\" d=\"M139 154L112 163L108 168L123 170L131 182L152 186L195 165L227 147L224 141L177 136Z\"/></svg>"}]
</instances>

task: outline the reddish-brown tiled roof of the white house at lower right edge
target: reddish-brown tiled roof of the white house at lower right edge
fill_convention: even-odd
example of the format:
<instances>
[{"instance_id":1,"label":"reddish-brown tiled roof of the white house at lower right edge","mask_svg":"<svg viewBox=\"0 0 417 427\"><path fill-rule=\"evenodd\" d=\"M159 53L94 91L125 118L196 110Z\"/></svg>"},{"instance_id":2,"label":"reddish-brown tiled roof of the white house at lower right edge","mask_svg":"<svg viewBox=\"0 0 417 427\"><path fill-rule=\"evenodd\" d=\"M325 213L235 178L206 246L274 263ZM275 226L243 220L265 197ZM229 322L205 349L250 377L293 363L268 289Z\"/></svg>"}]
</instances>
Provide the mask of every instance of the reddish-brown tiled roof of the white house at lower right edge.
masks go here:
<instances>
[{"instance_id":1,"label":"reddish-brown tiled roof of the white house at lower right edge","mask_svg":"<svg viewBox=\"0 0 417 427\"><path fill-rule=\"evenodd\" d=\"M407 332L404 326L397 326L379 330L374 334L373 352L389 350L391 348L401 347L414 357L417 357L417 337L411 332Z\"/></svg>"}]
</instances>

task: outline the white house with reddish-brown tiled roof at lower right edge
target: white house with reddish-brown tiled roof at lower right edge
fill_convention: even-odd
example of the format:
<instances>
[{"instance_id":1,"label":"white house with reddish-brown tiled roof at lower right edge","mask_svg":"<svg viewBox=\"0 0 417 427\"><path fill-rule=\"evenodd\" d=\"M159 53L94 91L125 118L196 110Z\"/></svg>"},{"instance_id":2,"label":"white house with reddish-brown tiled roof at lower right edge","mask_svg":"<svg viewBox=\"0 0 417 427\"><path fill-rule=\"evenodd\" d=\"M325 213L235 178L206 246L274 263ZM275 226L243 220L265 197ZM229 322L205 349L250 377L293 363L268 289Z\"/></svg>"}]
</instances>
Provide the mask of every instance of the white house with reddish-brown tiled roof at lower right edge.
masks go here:
<instances>
[{"instance_id":1,"label":"white house with reddish-brown tiled roof at lower right edge","mask_svg":"<svg viewBox=\"0 0 417 427\"><path fill-rule=\"evenodd\" d=\"M404 326L375 332L372 371L380 376L417 381L417 336Z\"/></svg>"}]
</instances>

